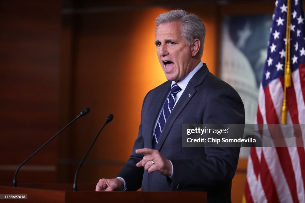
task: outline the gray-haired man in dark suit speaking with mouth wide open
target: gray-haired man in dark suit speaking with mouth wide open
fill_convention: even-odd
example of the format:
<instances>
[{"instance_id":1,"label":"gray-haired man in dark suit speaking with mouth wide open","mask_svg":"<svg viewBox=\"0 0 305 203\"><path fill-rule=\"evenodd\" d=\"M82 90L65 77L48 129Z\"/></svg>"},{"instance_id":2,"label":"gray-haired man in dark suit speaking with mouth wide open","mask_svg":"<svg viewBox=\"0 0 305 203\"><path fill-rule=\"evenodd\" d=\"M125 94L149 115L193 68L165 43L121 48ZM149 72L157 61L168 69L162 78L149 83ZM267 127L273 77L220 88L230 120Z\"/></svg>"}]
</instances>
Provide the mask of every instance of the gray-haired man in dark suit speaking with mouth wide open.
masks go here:
<instances>
[{"instance_id":1,"label":"gray-haired man in dark suit speaking with mouth wide open","mask_svg":"<svg viewBox=\"0 0 305 203\"><path fill-rule=\"evenodd\" d=\"M131 156L96 191L207 191L208 202L231 202L239 147L182 147L182 124L245 123L238 93L201 62L205 27L183 10L161 14L155 44L167 82L149 91Z\"/></svg>"}]
</instances>

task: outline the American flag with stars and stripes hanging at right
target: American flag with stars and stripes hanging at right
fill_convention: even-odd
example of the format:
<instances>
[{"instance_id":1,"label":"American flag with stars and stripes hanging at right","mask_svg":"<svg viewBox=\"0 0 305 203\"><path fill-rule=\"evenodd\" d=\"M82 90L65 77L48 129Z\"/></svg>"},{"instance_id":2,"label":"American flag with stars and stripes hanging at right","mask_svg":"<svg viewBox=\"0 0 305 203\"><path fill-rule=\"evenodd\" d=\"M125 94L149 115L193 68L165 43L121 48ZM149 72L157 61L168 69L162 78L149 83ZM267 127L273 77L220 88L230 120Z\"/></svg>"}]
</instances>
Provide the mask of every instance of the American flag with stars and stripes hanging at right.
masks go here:
<instances>
[{"instance_id":1,"label":"American flag with stars and stripes hanging at right","mask_svg":"<svg viewBox=\"0 0 305 203\"><path fill-rule=\"evenodd\" d=\"M287 123L305 123L305 36L301 0L291 0L290 67ZM287 0L275 3L267 60L260 84L256 122L282 121L284 98ZM302 134L305 130L302 129ZM252 147L245 186L246 202L305 202L305 151L302 147ZM299 145L298 145L299 146Z\"/></svg>"}]
</instances>

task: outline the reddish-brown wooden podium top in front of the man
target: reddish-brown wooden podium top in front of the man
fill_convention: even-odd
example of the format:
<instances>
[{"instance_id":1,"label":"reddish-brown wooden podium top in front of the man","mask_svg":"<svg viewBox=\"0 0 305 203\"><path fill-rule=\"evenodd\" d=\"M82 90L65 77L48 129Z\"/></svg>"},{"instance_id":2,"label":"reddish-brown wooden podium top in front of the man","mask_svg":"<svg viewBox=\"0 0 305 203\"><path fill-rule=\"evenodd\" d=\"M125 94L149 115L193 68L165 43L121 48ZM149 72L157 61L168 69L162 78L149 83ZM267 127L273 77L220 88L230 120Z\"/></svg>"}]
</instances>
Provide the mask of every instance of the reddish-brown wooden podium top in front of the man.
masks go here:
<instances>
[{"instance_id":1,"label":"reddish-brown wooden podium top in front of the man","mask_svg":"<svg viewBox=\"0 0 305 203\"><path fill-rule=\"evenodd\" d=\"M122 202L122 203L168 203L207 202L206 192L95 192L95 184L78 184L78 191L72 191L72 184L9 184L0 186L0 194L27 194L27 199L0 199L0 202Z\"/></svg>"}]
</instances>

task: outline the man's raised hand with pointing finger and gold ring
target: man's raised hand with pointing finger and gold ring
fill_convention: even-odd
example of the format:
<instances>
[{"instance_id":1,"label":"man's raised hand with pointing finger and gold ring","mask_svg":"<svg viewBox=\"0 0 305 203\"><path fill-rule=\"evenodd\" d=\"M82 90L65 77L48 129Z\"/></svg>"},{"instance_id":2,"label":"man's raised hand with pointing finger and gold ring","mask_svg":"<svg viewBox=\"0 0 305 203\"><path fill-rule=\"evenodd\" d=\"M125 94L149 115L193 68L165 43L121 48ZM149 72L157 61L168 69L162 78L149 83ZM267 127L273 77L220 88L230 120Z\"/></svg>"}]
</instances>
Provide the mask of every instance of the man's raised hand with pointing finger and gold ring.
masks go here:
<instances>
[{"instance_id":1,"label":"man's raised hand with pointing finger and gold ring","mask_svg":"<svg viewBox=\"0 0 305 203\"><path fill-rule=\"evenodd\" d=\"M137 149L137 154L146 154L141 161L137 163L138 167L144 167L148 173L160 171L163 176L170 176L172 173L172 166L168 159L166 159L158 150L154 149Z\"/></svg>"}]
</instances>

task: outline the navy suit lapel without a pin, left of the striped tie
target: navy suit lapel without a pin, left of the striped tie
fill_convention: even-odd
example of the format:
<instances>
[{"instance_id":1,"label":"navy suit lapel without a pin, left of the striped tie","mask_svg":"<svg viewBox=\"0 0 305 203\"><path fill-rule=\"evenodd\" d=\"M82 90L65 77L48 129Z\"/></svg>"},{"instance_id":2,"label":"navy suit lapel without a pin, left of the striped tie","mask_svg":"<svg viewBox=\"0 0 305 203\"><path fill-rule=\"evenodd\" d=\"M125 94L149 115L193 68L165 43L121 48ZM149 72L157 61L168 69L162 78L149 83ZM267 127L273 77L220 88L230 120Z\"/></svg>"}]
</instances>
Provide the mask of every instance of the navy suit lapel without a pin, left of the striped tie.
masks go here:
<instances>
[{"instance_id":1,"label":"navy suit lapel without a pin, left of the striped tie","mask_svg":"<svg viewBox=\"0 0 305 203\"><path fill-rule=\"evenodd\" d=\"M152 148L152 136L154 127L156 124L156 121L158 119L158 115L160 113L161 108L163 107L163 103L165 101L165 98L167 97L167 94L170 92L170 86L171 82L167 81L167 84L165 84L166 88L162 88L152 100L152 103L149 105L151 108L149 108L149 114L147 115L149 117L149 125L148 125L148 135L151 135L148 139L148 146Z\"/></svg>"}]
</instances>

